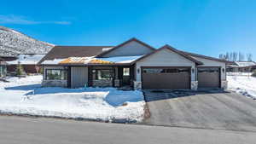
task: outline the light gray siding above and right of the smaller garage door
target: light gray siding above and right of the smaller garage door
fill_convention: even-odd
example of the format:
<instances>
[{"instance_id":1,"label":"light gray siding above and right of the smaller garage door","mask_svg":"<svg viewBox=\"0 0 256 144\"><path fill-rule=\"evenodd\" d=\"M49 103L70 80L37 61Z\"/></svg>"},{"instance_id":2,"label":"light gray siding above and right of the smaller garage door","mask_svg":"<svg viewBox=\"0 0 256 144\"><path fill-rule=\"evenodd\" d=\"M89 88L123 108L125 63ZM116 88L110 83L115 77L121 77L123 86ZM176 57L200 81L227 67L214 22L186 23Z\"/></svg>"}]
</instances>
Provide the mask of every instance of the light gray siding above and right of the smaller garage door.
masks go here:
<instances>
[{"instance_id":1,"label":"light gray siding above and right of the smaller garage door","mask_svg":"<svg viewBox=\"0 0 256 144\"><path fill-rule=\"evenodd\" d=\"M195 56L193 56L193 58L195 60L199 60L202 63L204 63L203 65L200 65L198 67L201 67L201 66L219 66L219 67L221 67L221 80L226 80L226 64L224 62L219 62L219 61L215 61L215 60L208 60L208 59L204 59L204 58L201 58L201 57L195 57ZM222 72L223 68L225 70L224 72Z\"/></svg>"}]
</instances>

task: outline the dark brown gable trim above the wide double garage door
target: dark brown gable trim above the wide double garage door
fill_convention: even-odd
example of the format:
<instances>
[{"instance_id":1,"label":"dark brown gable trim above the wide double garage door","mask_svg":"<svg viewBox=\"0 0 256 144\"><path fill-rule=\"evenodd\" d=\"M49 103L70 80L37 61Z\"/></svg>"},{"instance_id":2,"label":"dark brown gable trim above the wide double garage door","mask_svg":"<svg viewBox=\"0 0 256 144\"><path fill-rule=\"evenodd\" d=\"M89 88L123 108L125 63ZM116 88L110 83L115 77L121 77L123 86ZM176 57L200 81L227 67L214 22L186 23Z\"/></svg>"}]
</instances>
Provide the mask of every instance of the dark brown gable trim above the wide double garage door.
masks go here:
<instances>
[{"instance_id":1,"label":"dark brown gable trim above the wide double garage door","mask_svg":"<svg viewBox=\"0 0 256 144\"><path fill-rule=\"evenodd\" d=\"M189 55L184 55L184 54L183 54L182 52L180 52L179 50L174 49L174 48L172 48L170 45L167 45L167 44L166 44L165 46L161 47L160 49L154 50L154 52L152 52L152 53L150 53L150 54L148 54L148 55L144 55L143 57L141 57L141 58L139 58L139 59L137 59L137 60L134 60L131 64L134 64L135 62L137 62L137 61L139 61L139 60L143 60L143 59L145 59L146 57L148 57L149 55L154 55L154 53L157 53L157 52L159 52L159 51L162 50L162 49L169 49L169 50L171 50L171 51L177 53L178 55L181 55L181 56L183 56L184 58L195 62L196 65L203 65L203 63L202 63L201 61L195 60L194 58L190 57Z\"/></svg>"}]
</instances>

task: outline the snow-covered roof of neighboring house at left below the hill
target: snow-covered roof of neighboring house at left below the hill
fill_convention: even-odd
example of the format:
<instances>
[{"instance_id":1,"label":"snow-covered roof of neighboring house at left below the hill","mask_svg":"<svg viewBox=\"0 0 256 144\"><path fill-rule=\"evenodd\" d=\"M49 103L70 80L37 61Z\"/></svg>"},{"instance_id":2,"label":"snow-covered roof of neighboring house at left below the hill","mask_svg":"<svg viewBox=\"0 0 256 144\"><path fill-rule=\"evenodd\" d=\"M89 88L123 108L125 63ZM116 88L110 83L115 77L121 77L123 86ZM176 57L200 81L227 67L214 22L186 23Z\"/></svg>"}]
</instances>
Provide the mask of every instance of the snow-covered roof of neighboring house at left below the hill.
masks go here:
<instances>
[{"instance_id":1,"label":"snow-covered roof of neighboring house at left below the hill","mask_svg":"<svg viewBox=\"0 0 256 144\"><path fill-rule=\"evenodd\" d=\"M18 55L17 60L7 61L10 65L17 65L19 62L23 65L36 65L44 57L44 55Z\"/></svg>"}]
</instances>

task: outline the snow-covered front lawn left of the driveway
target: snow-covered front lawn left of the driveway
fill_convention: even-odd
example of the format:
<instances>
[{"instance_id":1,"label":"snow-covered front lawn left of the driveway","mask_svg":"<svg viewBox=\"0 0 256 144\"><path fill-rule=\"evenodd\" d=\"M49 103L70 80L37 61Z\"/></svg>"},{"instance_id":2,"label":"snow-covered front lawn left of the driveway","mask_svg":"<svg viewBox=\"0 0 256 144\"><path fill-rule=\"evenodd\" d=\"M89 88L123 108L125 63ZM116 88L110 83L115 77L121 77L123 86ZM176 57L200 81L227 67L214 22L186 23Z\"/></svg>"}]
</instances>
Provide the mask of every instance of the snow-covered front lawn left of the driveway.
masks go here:
<instances>
[{"instance_id":1,"label":"snow-covered front lawn left of the driveway","mask_svg":"<svg viewBox=\"0 0 256 144\"><path fill-rule=\"evenodd\" d=\"M143 120L145 102L141 91L42 88L42 76L8 80L10 83L0 82L2 113L103 121Z\"/></svg>"}]
</instances>

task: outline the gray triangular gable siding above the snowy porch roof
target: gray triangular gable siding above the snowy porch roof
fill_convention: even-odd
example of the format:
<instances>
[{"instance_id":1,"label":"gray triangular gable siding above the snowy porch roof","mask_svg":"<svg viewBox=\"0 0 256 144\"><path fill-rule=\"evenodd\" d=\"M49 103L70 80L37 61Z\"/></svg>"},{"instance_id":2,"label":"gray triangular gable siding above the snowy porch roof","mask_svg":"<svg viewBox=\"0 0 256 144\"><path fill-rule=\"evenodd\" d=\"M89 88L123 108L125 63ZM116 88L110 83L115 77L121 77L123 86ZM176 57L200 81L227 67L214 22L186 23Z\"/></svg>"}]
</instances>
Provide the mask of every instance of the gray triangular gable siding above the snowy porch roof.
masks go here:
<instances>
[{"instance_id":1,"label":"gray triangular gable siding above the snowy porch roof","mask_svg":"<svg viewBox=\"0 0 256 144\"><path fill-rule=\"evenodd\" d=\"M131 41L106 55L102 55L102 57L148 55L151 52L153 52L153 49L149 49L141 43Z\"/></svg>"}]
</instances>

